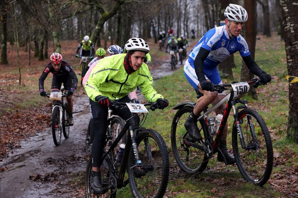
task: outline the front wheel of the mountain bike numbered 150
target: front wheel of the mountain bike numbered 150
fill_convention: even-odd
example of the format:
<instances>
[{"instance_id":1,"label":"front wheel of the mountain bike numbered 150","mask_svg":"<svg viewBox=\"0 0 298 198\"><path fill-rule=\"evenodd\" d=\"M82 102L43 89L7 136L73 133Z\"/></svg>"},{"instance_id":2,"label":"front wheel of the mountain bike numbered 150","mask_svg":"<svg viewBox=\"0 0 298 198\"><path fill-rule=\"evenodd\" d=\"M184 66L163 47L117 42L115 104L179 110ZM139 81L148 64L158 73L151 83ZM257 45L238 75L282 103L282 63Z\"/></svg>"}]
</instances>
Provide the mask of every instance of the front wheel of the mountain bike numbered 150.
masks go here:
<instances>
[{"instance_id":1,"label":"front wheel of the mountain bike numbered 150","mask_svg":"<svg viewBox=\"0 0 298 198\"><path fill-rule=\"evenodd\" d=\"M237 167L244 179L263 186L270 178L273 167L273 149L268 128L260 114L252 109L241 110L238 119L246 149L242 148L234 125L232 145Z\"/></svg>"}]
</instances>

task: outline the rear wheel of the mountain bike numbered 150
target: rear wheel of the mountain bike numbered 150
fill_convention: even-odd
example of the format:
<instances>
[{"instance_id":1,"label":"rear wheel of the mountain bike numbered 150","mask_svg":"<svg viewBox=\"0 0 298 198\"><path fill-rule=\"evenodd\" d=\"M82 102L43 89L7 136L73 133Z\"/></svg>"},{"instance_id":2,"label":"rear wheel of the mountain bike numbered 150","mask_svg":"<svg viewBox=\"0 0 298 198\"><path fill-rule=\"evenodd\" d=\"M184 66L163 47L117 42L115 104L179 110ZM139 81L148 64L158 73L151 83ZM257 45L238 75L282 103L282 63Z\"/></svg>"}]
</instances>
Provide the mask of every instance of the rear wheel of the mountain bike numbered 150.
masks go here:
<instances>
[{"instance_id":1,"label":"rear wheel of the mountain bike numbered 150","mask_svg":"<svg viewBox=\"0 0 298 198\"><path fill-rule=\"evenodd\" d=\"M173 118L171 128L171 145L174 157L181 170L187 173L201 172L208 164L204 151L187 145L183 140L183 137L185 137L188 141L198 143L189 137L184 127L184 123L192 110L193 107L190 106L179 109ZM204 141L207 132L206 123L204 121L198 121L197 124Z\"/></svg>"}]
</instances>

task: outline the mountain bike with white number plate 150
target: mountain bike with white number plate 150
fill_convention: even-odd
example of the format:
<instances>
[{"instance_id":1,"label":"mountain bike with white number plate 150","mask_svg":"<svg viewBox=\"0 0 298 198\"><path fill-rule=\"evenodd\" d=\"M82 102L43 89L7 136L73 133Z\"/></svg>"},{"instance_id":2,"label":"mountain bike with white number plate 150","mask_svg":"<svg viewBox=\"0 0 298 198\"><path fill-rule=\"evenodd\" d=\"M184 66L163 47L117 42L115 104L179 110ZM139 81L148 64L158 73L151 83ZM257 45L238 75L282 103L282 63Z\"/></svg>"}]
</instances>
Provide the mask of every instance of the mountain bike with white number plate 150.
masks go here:
<instances>
[{"instance_id":1,"label":"mountain bike with white number plate 150","mask_svg":"<svg viewBox=\"0 0 298 198\"><path fill-rule=\"evenodd\" d=\"M260 114L249 109L247 100L240 100L251 86L257 88L262 84L264 83L259 79L253 78L240 83L235 81L231 84L214 85L215 91L219 93L223 90L231 90L231 92L209 110L206 108L203 114L200 114L197 124L203 140L199 142L193 140L184 127L195 103L183 102L173 108L178 111L172 122L171 145L176 162L184 172L201 172L207 167L214 153L222 154L218 143L232 109L234 113L232 147L238 170L245 180L255 185L263 186L268 181L273 166L273 149L268 128ZM201 96L199 92L197 97ZM208 126L207 115L226 101L228 101L226 109L214 138L209 131L213 126ZM236 104L240 105L236 106ZM228 164L225 158L224 163Z\"/></svg>"}]
</instances>

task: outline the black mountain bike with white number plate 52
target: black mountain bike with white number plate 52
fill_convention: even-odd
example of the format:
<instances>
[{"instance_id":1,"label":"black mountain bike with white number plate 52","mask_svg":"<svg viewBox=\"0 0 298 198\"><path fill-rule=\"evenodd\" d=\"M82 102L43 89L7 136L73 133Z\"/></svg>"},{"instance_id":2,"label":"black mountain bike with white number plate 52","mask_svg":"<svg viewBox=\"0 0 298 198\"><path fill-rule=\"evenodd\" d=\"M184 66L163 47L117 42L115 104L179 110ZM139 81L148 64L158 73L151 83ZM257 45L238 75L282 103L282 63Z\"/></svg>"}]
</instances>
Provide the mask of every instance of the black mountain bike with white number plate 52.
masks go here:
<instances>
[{"instance_id":1,"label":"black mountain bike with white number plate 52","mask_svg":"<svg viewBox=\"0 0 298 198\"><path fill-rule=\"evenodd\" d=\"M169 178L169 156L167 146L162 136L153 129L139 126L138 113L146 113L148 109L158 108L157 103L136 104L112 101L108 112L107 137L104 154L100 160L102 183L105 184L106 193L96 194L91 189L91 155L85 173L86 197L116 197L116 189L130 184L134 197L163 197ZM126 121L119 135L114 138L111 124L118 117L111 116L111 108L129 108L131 117ZM143 117L145 121L146 117ZM142 122L142 121L141 121ZM140 123L141 123L140 122ZM127 132L127 134L126 134ZM117 145L125 138L125 148L122 160L118 159Z\"/></svg>"}]
</instances>

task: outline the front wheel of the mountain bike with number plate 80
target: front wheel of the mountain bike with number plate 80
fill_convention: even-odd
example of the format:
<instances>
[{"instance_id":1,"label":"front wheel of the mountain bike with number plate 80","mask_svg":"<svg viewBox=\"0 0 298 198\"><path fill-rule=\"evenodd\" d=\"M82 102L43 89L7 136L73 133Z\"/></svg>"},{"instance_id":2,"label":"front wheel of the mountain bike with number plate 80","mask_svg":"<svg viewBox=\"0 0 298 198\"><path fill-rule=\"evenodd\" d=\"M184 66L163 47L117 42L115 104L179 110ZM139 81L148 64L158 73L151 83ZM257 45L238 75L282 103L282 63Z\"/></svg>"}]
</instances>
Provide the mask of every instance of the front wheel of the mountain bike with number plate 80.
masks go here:
<instances>
[{"instance_id":1,"label":"front wheel of the mountain bike with number plate 80","mask_svg":"<svg viewBox=\"0 0 298 198\"><path fill-rule=\"evenodd\" d=\"M54 144L56 146L59 146L60 142L61 142L61 135L62 135L61 125L60 125L60 109L59 109L59 107L55 107L53 110L52 134L53 134Z\"/></svg>"}]
</instances>

